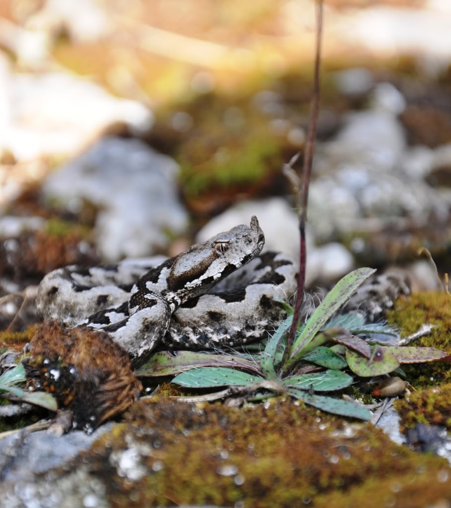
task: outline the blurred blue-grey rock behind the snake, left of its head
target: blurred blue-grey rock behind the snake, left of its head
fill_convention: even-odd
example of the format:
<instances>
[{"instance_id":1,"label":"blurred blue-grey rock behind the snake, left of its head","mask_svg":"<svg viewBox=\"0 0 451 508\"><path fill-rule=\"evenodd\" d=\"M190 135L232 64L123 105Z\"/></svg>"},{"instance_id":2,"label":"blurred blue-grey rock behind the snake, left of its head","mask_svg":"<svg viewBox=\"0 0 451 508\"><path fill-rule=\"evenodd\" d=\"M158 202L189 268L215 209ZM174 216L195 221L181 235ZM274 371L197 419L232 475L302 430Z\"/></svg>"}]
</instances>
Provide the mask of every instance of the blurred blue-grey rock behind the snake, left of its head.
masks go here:
<instances>
[{"instance_id":1,"label":"blurred blue-grey rock behind the snake, left of its head","mask_svg":"<svg viewBox=\"0 0 451 508\"><path fill-rule=\"evenodd\" d=\"M104 137L43 185L46 199L73 210L83 199L101 208L96 244L104 259L151 255L184 231L187 214L177 197L178 167L139 140Z\"/></svg>"}]
</instances>

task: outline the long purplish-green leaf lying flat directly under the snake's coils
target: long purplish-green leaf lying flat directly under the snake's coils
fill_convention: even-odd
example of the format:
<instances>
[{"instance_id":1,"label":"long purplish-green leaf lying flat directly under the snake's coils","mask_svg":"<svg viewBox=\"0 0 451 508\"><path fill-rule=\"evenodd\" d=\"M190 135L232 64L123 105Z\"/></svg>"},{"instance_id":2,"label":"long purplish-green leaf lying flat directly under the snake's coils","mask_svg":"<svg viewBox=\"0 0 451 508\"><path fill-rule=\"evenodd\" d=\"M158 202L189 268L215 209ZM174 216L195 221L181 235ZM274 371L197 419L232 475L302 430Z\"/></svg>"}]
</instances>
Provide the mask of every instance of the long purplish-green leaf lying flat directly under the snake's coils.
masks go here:
<instances>
[{"instance_id":1,"label":"long purplish-green leaf lying flat directly under the snake's coils","mask_svg":"<svg viewBox=\"0 0 451 508\"><path fill-rule=\"evenodd\" d=\"M232 367L249 370L255 374L261 373L259 366L246 358L192 351L176 351L174 355L167 351L155 353L148 362L135 371L135 374L148 377L169 376L197 367Z\"/></svg>"}]
</instances>

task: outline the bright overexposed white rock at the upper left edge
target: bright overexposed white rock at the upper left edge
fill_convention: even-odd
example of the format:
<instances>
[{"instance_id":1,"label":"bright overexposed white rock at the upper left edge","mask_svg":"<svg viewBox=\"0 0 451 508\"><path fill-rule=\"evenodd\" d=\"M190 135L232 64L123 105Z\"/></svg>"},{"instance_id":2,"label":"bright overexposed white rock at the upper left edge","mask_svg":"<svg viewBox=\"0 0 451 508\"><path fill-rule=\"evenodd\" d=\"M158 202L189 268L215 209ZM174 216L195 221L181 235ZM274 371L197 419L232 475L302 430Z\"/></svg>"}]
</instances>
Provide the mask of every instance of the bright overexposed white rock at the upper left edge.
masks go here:
<instances>
[{"instance_id":1,"label":"bright overexposed white rock at the upper left edge","mask_svg":"<svg viewBox=\"0 0 451 508\"><path fill-rule=\"evenodd\" d=\"M105 129L124 123L147 131L152 112L117 99L100 86L71 74L12 75L0 60L0 150L17 161L45 154L72 155Z\"/></svg>"}]
</instances>

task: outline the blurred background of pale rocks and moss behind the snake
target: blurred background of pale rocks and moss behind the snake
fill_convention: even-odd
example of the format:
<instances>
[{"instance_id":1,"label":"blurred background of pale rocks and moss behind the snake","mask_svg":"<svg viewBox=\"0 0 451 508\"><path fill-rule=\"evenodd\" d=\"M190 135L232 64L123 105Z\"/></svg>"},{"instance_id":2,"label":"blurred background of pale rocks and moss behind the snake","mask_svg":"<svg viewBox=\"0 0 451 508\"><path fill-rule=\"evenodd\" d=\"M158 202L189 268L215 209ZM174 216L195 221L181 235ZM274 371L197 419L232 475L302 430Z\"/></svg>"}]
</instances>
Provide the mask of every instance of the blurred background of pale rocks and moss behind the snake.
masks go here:
<instances>
[{"instance_id":1,"label":"blurred background of pale rocks and moss behind the snake","mask_svg":"<svg viewBox=\"0 0 451 508\"><path fill-rule=\"evenodd\" d=\"M308 284L449 270L451 3L327 0ZM0 0L0 294L259 217L297 257L310 0ZM299 165L300 167L301 165ZM298 168L300 169L300 168Z\"/></svg>"}]
</instances>

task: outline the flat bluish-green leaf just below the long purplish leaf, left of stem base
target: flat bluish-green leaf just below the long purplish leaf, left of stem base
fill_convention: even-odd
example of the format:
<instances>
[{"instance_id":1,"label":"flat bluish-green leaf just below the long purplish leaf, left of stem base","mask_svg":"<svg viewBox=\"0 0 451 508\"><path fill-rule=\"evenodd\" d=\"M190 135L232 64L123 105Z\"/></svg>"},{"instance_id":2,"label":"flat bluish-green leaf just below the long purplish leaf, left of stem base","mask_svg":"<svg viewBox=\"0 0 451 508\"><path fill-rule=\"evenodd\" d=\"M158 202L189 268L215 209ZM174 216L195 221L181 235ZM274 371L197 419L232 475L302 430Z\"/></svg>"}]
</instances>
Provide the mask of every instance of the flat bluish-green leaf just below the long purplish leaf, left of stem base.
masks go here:
<instances>
[{"instance_id":1,"label":"flat bluish-green leaf just below the long purplish leaf, left of stem base","mask_svg":"<svg viewBox=\"0 0 451 508\"><path fill-rule=\"evenodd\" d=\"M201 367L174 377L173 383L187 388L216 388L218 386L250 386L264 381L263 377L224 367Z\"/></svg>"}]
</instances>

